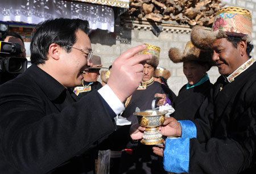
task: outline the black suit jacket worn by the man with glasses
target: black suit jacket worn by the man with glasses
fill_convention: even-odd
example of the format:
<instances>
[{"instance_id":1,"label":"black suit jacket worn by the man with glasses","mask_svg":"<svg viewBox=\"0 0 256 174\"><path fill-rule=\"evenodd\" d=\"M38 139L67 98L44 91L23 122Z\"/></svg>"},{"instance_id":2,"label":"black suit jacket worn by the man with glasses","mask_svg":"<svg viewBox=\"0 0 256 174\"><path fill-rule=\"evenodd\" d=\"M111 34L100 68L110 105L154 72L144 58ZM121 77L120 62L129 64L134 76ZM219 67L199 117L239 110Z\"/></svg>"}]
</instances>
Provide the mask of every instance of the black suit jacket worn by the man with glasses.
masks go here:
<instances>
[{"instance_id":1,"label":"black suit jacket worn by the man with glasses","mask_svg":"<svg viewBox=\"0 0 256 174\"><path fill-rule=\"evenodd\" d=\"M0 91L0 173L85 173L82 154L116 129L97 91L77 101L36 65Z\"/></svg>"}]
</instances>

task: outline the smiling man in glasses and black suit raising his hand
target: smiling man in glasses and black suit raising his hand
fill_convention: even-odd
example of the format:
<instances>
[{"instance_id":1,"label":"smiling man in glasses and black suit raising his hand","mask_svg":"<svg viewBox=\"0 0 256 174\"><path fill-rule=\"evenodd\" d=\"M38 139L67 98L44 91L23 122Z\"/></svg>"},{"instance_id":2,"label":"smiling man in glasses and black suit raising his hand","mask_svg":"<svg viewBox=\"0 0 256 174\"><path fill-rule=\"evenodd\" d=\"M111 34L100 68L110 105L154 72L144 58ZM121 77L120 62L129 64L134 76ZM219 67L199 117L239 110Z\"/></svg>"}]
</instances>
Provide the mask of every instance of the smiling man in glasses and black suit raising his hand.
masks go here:
<instances>
[{"instance_id":1,"label":"smiling man in glasses and black suit raising his hand","mask_svg":"<svg viewBox=\"0 0 256 174\"><path fill-rule=\"evenodd\" d=\"M36 26L32 65L0 86L0 173L86 173L84 154L113 133L113 118L139 86L139 45L113 63L108 85L78 100L93 55L88 22L52 19ZM129 85L128 85L129 84ZM129 135L129 133L127 133Z\"/></svg>"}]
</instances>

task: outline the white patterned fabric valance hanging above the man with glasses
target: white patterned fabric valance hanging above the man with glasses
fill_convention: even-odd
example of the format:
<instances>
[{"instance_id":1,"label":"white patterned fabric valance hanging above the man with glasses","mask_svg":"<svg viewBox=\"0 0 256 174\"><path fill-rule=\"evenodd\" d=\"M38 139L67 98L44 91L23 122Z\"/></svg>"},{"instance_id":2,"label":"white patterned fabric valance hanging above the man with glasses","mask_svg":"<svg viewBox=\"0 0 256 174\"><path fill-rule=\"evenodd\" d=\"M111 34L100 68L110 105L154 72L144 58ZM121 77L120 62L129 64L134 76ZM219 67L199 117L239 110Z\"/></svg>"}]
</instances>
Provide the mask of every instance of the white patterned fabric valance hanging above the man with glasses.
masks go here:
<instances>
[{"instance_id":1,"label":"white patterned fabric valance hanging above the man with glasses","mask_svg":"<svg viewBox=\"0 0 256 174\"><path fill-rule=\"evenodd\" d=\"M99 28L114 32L112 7L77 1L1 0L2 21L38 24L52 18L80 18L88 20L91 29Z\"/></svg>"}]
</instances>

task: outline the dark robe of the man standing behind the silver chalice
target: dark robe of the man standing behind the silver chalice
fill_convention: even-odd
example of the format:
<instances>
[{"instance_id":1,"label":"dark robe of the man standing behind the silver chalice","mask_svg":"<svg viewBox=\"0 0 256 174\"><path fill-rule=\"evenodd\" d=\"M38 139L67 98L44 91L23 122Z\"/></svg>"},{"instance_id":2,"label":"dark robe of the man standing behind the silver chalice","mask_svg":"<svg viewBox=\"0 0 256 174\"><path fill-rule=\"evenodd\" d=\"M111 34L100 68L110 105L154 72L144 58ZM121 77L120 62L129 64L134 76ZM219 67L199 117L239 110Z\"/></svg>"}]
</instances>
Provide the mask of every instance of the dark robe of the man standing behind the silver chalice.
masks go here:
<instances>
[{"instance_id":1,"label":"dark robe of the man standing behind the silver chalice","mask_svg":"<svg viewBox=\"0 0 256 174\"><path fill-rule=\"evenodd\" d=\"M151 109L156 93L165 94L159 82L149 84L146 90L136 90L122 116L133 123L138 122L137 117L133 115L135 108L138 107L141 111ZM171 98L174 99L176 95L173 92L172 94ZM129 148L133 148L133 154L122 153L119 173L166 173L163 169L162 158L152 152L152 146L135 143Z\"/></svg>"}]
</instances>

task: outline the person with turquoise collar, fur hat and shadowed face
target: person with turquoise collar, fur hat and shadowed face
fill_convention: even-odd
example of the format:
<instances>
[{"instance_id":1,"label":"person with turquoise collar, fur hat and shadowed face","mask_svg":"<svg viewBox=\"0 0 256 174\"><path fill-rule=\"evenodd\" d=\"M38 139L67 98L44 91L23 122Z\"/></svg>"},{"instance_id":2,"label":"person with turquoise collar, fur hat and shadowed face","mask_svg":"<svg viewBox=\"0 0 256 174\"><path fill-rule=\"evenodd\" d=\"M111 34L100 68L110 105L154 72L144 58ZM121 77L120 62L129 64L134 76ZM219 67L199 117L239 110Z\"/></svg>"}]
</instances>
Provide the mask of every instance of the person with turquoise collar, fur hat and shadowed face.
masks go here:
<instances>
[{"instance_id":1,"label":"person with turquoise collar, fur hat and shadowed face","mask_svg":"<svg viewBox=\"0 0 256 174\"><path fill-rule=\"evenodd\" d=\"M188 80L172 102L175 109L173 117L177 120L193 120L213 85L207 74L213 65L212 56L210 52L204 52L188 41L183 55L179 49L171 48L169 58L174 63L183 62L183 73Z\"/></svg>"}]
</instances>

